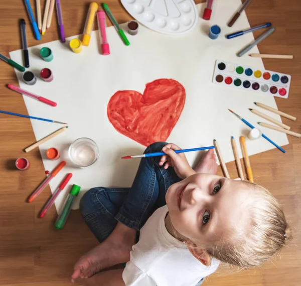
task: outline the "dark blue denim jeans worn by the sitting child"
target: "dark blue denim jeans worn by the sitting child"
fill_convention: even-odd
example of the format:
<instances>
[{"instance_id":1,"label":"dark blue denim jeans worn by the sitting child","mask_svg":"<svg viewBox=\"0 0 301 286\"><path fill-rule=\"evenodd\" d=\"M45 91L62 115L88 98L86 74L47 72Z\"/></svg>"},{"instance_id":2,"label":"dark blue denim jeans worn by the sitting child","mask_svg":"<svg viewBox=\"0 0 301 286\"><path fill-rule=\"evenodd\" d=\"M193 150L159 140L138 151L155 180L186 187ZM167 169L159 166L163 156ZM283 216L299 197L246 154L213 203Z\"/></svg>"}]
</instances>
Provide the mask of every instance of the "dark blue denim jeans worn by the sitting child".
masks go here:
<instances>
[{"instance_id":1,"label":"dark blue denim jeans worn by the sitting child","mask_svg":"<svg viewBox=\"0 0 301 286\"><path fill-rule=\"evenodd\" d=\"M153 143L144 153L159 152L166 144ZM81 215L99 242L112 233L118 221L139 231L158 208L166 205L167 189L181 179L174 168L159 166L160 159L142 158L129 188L95 187L82 197Z\"/></svg>"}]
</instances>

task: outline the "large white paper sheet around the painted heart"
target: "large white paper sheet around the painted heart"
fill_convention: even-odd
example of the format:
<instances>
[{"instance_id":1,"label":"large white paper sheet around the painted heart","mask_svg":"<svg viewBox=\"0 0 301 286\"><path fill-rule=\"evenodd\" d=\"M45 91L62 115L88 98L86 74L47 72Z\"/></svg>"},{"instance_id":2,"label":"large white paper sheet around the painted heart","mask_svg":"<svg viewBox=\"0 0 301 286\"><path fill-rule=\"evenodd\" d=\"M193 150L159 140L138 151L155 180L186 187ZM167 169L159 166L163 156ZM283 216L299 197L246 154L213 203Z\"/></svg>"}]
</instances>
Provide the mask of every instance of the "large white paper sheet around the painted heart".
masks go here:
<instances>
[{"instance_id":1,"label":"large white paper sheet around the painted heart","mask_svg":"<svg viewBox=\"0 0 301 286\"><path fill-rule=\"evenodd\" d=\"M69 124L67 131L40 146L46 170L53 170L59 163L46 158L46 150L50 147L58 148L61 159L67 161L67 167L50 183L52 192L67 172L73 173L69 186L56 200L57 209L60 209L73 183L82 187L79 198L94 186L131 185L139 160L121 160L120 157L141 154L145 147L113 128L108 121L107 104L116 91L130 89L142 93L145 84L155 79L174 78L186 88L185 107L168 141L182 148L194 148L212 145L213 139L216 139L224 160L234 160L230 138L234 136L239 144L239 136L249 128L227 109L232 109L256 125L259 118L248 110L256 108L253 102L277 108L273 97L212 83L216 59L263 68L260 58L247 55L238 58L235 55L253 40L252 33L232 40L223 36L249 27L245 13L242 13L232 28L226 26L240 5L239 0L216 1L212 20L200 19L192 32L182 36L168 36L140 26L136 36L127 35L130 46L125 46L115 29L110 27L107 29L111 50L109 56L99 54L98 31L92 33L90 46L83 47L80 54L75 54L68 48L69 40L73 37L67 39L65 45L54 41L29 48L29 70L38 75L42 68L49 67L53 71L54 80L47 83L38 79L35 85L29 86L22 81L22 73L17 71L20 87L58 103L53 108L25 97L29 114ZM205 4L198 5L200 15L204 8ZM222 29L217 40L211 40L207 36L209 27L214 24ZM43 46L52 49L53 61L45 62L40 58L39 50ZM258 52L257 47L252 52ZM23 62L21 50L11 52L10 55L16 62ZM280 120L277 115L269 115ZM37 140L62 127L38 120L31 122ZM278 145L288 144L285 134L263 128L262 130ZM69 145L80 137L93 139L100 149L98 161L87 169L76 168L68 159ZM261 138L248 140L247 148L249 155L252 155L274 146ZM187 153L190 163L196 156L197 152ZM31 191L29 189L28 193ZM74 208L78 208L78 202L79 199Z\"/></svg>"}]
</instances>

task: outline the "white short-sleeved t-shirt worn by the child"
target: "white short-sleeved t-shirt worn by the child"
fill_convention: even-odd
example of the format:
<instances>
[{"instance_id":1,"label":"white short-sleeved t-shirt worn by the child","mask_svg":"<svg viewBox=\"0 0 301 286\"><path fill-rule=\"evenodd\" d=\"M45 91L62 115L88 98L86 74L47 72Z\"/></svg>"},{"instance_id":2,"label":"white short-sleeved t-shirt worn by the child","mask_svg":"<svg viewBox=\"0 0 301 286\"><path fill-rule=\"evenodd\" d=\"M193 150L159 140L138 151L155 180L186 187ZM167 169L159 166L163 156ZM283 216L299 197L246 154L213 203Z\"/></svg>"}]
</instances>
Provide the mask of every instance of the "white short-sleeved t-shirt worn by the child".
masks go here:
<instances>
[{"instance_id":1,"label":"white short-sleeved t-shirt worn by the child","mask_svg":"<svg viewBox=\"0 0 301 286\"><path fill-rule=\"evenodd\" d=\"M156 210L141 228L122 273L126 286L195 286L217 269L218 260L204 266L185 243L169 234L167 212L167 206Z\"/></svg>"}]
</instances>

